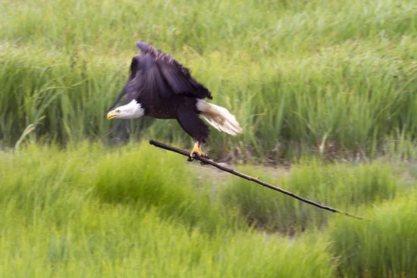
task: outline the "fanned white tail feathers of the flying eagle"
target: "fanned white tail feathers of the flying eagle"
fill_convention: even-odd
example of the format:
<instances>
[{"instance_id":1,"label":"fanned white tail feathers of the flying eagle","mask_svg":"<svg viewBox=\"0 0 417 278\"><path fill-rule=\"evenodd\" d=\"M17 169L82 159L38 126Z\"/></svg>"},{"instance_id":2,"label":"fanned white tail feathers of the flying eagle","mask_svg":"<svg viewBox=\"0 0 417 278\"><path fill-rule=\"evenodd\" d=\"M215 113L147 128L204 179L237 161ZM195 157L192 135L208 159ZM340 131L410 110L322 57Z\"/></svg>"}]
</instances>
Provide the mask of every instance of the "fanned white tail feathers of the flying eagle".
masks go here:
<instances>
[{"instance_id":1,"label":"fanned white tail feathers of the flying eagle","mask_svg":"<svg viewBox=\"0 0 417 278\"><path fill-rule=\"evenodd\" d=\"M208 124L211 124L215 129L229 133L231 136L236 136L242 133L236 117L231 115L226 108L210 104L202 99L197 100L197 110Z\"/></svg>"}]
</instances>

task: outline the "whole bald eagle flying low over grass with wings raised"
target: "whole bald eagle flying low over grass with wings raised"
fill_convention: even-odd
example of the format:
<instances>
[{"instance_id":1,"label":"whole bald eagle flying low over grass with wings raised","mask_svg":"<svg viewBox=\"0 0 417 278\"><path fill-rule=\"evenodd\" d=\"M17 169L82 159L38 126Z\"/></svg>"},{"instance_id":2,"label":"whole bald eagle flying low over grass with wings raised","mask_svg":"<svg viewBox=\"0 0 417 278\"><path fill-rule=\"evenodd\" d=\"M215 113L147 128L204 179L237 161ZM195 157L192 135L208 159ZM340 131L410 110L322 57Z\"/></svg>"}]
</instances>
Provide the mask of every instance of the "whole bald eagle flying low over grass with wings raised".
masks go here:
<instances>
[{"instance_id":1,"label":"whole bald eagle flying low over grass with wings raised","mask_svg":"<svg viewBox=\"0 0 417 278\"><path fill-rule=\"evenodd\" d=\"M237 136L242 133L236 117L226 108L210 104L211 92L195 81L188 68L177 60L146 42L137 42L141 54L133 56L130 76L122 93L111 108L107 119L135 119L142 116L156 119L175 119L195 145L189 160L198 156L208 158L202 152L209 129L199 118L201 115L215 129ZM126 95L124 105L112 110Z\"/></svg>"}]
</instances>

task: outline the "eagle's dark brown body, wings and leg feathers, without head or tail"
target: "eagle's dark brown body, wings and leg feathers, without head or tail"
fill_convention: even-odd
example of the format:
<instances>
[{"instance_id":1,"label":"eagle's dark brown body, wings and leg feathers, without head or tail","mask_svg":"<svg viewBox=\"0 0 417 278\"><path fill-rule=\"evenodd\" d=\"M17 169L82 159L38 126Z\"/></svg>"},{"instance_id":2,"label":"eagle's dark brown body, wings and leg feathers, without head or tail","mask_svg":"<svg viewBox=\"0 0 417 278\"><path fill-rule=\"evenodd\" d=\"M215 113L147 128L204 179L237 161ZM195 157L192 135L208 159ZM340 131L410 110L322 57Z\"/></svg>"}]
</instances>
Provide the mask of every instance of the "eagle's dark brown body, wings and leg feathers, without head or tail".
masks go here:
<instances>
[{"instance_id":1,"label":"eagle's dark brown body, wings and leg feathers, without head or tail","mask_svg":"<svg viewBox=\"0 0 417 278\"><path fill-rule=\"evenodd\" d=\"M206 142L209 129L196 104L198 99L213 99L211 93L167 54L145 42L136 45L142 53L133 56L129 80L112 108L126 95L124 104L136 99L146 116L176 119L195 142Z\"/></svg>"}]
</instances>

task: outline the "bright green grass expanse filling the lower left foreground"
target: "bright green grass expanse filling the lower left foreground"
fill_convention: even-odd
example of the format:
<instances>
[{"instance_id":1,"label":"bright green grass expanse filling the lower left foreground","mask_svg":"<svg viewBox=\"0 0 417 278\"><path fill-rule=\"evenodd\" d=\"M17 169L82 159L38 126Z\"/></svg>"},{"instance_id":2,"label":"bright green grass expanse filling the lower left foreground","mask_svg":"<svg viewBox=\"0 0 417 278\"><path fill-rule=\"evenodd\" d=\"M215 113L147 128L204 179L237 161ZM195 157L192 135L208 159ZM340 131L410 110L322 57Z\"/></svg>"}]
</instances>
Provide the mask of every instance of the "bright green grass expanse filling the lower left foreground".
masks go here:
<instances>
[{"instance_id":1,"label":"bright green grass expanse filling the lower left foreground","mask_svg":"<svg viewBox=\"0 0 417 278\"><path fill-rule=\"evenodd\" d=\"M2 275L332 277L324 240L251 231L183 158L104 150L1 154Z\"/></svg>"}]
</instances>

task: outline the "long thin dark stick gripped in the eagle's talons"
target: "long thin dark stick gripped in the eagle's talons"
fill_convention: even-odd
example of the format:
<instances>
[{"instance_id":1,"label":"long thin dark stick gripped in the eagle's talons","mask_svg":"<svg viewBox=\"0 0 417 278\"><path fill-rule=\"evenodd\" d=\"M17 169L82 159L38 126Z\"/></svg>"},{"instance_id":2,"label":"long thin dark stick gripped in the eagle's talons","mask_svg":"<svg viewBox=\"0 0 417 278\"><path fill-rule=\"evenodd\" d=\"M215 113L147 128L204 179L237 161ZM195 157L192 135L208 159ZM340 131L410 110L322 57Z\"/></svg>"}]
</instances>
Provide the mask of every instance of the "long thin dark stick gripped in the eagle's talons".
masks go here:
<instances>
[{"instance_id":1,"label":"long thin dark stick gripped in the eagle's talons","mask_svg":"<svg viewBox=\"0 0 417 278\"><path fill-rule=\"evenodd\" d=\"M160 143L160 142L156 142L154 140L149 140L149 144L154 145L155 147L160 147L162 149L167 149L168 151L171 151L171 152L176 152L177 154L182 154L183 156L188 156L188 157L190 156L190 153L189 152L183 151L182 149L177 149L175 147L171 147L171 146L165 145L165 144ZM207 159L207 158L204 158L204 157L199 157L199 156L195 156L194 158L196 160L198 160L198 161L202 161L203 163L211 164L211 165L213 165L214 167L216 167L216 168L218 168L220 170L223 170L225 172L229 172L230 174L234 174L234 175L236 175L238 177L241 177L243 179L247 179L248 181L254 181L256 183L261 184L262 186L268 187L268 188L270 188L272 190L279 191L280 193L284 193L284 194L289 195L289 196L291 196L291 197L293 197L295 199L299 199L300 201L305 202L307 204L311 204L313 206L317 206L318 208L322 208L322 209L325 209L327 211L332 211L334 213L342 213L342 214L347 215L347 216L350 216L352 218L357 218L357 219L361 219L361 220L363 219L360 216L353 215L353 214L350 214L350 213L346 213L344 211L339 211L336 208L331 208L329 206L324 206L322 204L318 204L316 202L310 201L309 199L305 199L303 197L300 197L298 195L295 195L294 193L291 193L291 192L289 192L287 190L281 189L281 188L279 188L277 186L272 186L269 183L265 183L265 181L261 181L261 180L259 180L259 178L250 177L247 174L242 174L240 172L236 172L235 170L233 170L231 168L228 168L228 167L224 167L224 166L220 165L219 163L215 163L214 161L211 161L210 159Z\"/></svg>"}]
</instances>

